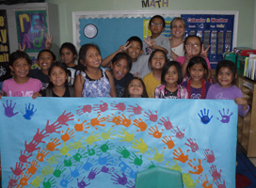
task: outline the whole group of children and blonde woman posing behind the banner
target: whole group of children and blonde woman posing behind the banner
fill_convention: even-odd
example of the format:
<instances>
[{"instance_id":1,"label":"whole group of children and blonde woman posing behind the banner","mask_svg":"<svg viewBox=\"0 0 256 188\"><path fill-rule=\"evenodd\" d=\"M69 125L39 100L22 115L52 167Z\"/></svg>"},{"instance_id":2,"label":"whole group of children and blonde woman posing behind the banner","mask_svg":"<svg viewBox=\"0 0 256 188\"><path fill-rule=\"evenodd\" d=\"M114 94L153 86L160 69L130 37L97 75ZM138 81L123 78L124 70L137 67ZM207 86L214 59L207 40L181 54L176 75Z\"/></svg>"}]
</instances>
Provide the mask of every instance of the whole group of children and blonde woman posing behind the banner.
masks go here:
<instances>
[{"instance_id":1,"label":"whole group of children and blonde woman posing behind the banner","mask_svg":"<svg viewBox=\"0 0 256 188\"><path fill-rule=\"evenodd\" d=\"M164 99L225 99L239 105L246 116L248 102L234 86L236 67L228 60L216 66L216 84L211 77L201 39L184 39L185 23L175 18L171 39L163 37L165 20L153 16L149 29L152 36L142 41L131 37L118 51L102 60L95 44L81 46L77 53L72 43L61 45L56 55L44 49L38 55L40 70L31 70L31 60L23 51L9 57L13 77L3 83L4 96L23 97L126 97ZM1 97L1 96L0 96Z\"/></svg>"}]
</instances>

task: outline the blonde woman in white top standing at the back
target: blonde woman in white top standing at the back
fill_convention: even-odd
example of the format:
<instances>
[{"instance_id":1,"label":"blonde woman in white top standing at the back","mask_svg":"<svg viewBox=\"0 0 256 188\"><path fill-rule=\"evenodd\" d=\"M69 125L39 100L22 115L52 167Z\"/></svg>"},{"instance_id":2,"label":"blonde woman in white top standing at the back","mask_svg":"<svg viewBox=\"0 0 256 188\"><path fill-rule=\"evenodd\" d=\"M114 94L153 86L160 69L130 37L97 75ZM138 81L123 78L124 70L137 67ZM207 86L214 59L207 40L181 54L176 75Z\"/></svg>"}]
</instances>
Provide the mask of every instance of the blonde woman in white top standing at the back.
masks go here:
<instances>
[{"instance_id":1,"label":"blonde woman in white top standing at the back","mask_svg":"<svg viewBox=\"0 0 256 188\"><path fill-rule=\"evenodd\" d=\"M184 56L184 32L185 22L181 17L175 17L170 23L170 58L177 59Z\"/></svg>"}]
</instances>

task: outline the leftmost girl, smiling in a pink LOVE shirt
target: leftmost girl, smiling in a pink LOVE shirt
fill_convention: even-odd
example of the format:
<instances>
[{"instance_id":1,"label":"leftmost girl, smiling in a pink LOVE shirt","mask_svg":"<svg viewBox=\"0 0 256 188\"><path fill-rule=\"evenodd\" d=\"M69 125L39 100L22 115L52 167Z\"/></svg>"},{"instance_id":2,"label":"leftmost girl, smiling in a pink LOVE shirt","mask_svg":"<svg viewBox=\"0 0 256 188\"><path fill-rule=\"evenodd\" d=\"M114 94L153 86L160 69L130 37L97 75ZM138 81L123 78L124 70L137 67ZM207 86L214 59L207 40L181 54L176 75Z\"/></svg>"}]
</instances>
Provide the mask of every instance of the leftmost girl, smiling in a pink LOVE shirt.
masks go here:
<instances>
[{"instance_id":1,"label":"leftmost girl, smiling in a pink LOVE shirt","mask_svg":"<svg viewBox=\"0 0 256 188\"><path fill-rule=\"evenodd\" d=\"M22 51L9 55L9 68L14 76L4 81L4 96L32 97L34 93L40 91L42 86L40 80L28 77L31 64L30 57Z\"/></svg>"}]
</instances>

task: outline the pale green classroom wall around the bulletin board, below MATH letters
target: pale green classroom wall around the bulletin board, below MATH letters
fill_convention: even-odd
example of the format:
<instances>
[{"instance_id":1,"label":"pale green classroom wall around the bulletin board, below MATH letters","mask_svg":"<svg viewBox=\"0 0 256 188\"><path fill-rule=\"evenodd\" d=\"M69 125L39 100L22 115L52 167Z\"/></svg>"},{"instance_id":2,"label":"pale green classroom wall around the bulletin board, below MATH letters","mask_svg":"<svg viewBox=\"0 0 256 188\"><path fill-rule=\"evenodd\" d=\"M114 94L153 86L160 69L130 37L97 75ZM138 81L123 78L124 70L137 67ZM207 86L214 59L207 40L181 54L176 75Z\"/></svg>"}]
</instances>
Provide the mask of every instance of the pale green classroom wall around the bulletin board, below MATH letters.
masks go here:
<instances>
[{"instance_id":1,"label":"pale green classroom wall around the bulletin board, below MATH letters","mask_svg":"<svg viewBox=\"0 0 256 188\"><path fill-rule=\"evenodd\" d=\"M58 6L60 43L72 42L72 11L238 10L237 46L253 47L255 0L168 0L168 8L142 8L142 0L46 0L45 2Z\"/></svg>"}]
</instances>

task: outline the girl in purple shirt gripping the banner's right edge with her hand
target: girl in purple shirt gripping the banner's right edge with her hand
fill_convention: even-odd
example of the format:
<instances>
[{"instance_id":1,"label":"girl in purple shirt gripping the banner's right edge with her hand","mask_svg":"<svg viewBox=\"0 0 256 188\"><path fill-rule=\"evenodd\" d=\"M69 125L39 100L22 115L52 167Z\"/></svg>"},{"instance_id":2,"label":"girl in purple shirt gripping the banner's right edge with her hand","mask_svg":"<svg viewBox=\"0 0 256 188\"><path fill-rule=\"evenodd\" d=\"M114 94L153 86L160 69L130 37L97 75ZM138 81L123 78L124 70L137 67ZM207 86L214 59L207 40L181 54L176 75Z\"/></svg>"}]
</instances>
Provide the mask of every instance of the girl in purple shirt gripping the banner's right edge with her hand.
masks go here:
<instances>
[{"instance_id":1,"label":"girl in purple shirt gripping the banner's right edge with her hand","mask_svg":"<svg viewBox=\"0 0 256 188\"><path fill-rule=\"evenodd\" d=\"M236 66L230 60L221 60L216 65L216 85L210 86L206 99L233 100L238 105L238 114L245 117L248 114L248 101L242 91L234 86Z\"/></svg>"}]
</instances>

